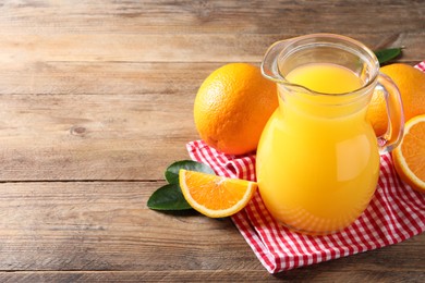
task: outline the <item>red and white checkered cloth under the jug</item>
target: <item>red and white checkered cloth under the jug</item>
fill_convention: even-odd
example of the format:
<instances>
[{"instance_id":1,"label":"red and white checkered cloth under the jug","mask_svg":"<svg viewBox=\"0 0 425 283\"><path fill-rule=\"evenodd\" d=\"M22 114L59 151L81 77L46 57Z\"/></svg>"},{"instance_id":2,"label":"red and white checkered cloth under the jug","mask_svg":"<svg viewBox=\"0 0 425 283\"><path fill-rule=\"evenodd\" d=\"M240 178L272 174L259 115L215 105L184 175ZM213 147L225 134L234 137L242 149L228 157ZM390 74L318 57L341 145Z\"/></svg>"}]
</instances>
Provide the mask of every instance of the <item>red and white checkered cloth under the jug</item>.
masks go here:
<instances>
[{"instance_id":1,"label":"red and white checkered cloth under the jug","mask_svg":"<svg viewBox=\"0 0 425 283\"><path fill-rule=\"evenodd\" d=\"M425 72L425 61L416 65ZM229 156L202 140L187 144L193 160L209 164L218 175L255 181L255 155ZM380 158L380 175L366 211L342 232L307 236L278 224L259 193L232 220L270 273L347 257L400 243L425 230L425 194L398 176L389 153Z\"/></svg>"}]
</instances>

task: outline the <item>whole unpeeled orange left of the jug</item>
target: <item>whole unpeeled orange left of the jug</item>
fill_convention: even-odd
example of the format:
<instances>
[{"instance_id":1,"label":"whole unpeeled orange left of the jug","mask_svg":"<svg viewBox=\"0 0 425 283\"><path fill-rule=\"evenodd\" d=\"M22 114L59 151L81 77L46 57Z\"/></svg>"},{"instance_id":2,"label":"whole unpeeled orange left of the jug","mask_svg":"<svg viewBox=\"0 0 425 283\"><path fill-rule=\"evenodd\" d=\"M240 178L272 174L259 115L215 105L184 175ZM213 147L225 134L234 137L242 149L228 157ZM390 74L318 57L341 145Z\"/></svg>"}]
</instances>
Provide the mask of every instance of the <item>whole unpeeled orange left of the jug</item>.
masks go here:
<instances>
[{"instance_id":1,"label":"whole unpeeled orange left of the jug","mask_svg":"<svg viewBox=\"0 0 425 283\"><path fill-rule=\"evenodd\" d=\"M201 85L194 118L201 138L229 155L257 148L259 136L278 107L276 84L259 67L230 63L214 71Z\"/></svg>"}]
</instances>

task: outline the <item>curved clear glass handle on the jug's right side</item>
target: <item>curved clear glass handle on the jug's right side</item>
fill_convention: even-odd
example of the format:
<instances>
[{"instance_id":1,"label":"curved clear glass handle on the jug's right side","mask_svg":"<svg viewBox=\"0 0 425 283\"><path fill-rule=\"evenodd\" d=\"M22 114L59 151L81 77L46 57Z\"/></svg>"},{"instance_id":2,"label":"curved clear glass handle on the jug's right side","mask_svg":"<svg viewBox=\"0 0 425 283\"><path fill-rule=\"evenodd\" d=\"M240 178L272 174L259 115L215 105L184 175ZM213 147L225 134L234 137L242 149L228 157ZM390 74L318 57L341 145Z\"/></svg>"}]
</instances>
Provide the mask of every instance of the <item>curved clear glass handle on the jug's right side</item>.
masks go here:
<instances>
[{"instance_id":1,"label":"curved clear glass handle on the jug's right side","mask_svg":"<svg viewBox=\"0 0 425 283\"><path fill-rule=\"evenodd\" d=\"M404 113L400 91L390 77L379 73L375 91L384 96L387 106L387 132L378 137L379 153L382 155L390 152L401 142L404 132Z\"/></svg>"}]
</instances>

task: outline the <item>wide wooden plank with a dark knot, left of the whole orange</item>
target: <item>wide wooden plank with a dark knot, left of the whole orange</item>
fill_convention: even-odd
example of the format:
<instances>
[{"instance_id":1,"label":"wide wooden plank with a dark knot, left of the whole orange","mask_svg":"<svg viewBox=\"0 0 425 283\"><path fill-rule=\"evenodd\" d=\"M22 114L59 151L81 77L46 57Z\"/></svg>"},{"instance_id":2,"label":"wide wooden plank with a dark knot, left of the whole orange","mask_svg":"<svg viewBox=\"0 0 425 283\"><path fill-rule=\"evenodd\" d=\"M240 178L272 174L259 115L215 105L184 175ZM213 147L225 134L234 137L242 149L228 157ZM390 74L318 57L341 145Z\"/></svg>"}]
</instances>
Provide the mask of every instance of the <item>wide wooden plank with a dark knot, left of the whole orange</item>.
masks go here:
<instances>
[{"instance_id":1,"label":"wide wooden plank with a dark knot, left of the whole orange","mask_svg":"<svg viewBox=\"0 0 425 283\"><path fill-rule=\"evenodd\" d=\"M193 94L2 95L0 180L163 180L198 138Z\"/></svg>"}]
</instances>

